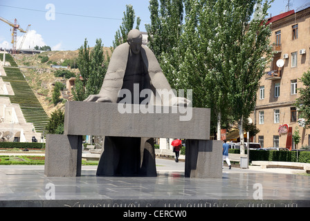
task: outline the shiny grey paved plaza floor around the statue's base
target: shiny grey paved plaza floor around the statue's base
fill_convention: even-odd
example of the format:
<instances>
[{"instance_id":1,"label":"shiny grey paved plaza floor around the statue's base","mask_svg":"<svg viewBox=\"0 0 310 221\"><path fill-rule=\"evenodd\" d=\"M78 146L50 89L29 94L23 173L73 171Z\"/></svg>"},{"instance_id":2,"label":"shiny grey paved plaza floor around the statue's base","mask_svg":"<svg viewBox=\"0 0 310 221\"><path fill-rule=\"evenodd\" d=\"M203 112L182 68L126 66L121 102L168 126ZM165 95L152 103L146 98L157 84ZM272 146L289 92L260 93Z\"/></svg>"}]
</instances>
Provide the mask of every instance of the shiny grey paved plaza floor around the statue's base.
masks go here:
<instances>
[{"instance_id":1,"label":"shiny grey paved plaza floor around the statue's base","mask_svg":"<svg viewBox=\"0 0 310 221\"><path fill-rule=\"evenodd\" d=\"M0 166L0 206L303 207L310 177L291 169L224 167L219 179L184 177L184 162L156 159L157 177L46 177L44 166Z\"/></svg>"}]
</instances>

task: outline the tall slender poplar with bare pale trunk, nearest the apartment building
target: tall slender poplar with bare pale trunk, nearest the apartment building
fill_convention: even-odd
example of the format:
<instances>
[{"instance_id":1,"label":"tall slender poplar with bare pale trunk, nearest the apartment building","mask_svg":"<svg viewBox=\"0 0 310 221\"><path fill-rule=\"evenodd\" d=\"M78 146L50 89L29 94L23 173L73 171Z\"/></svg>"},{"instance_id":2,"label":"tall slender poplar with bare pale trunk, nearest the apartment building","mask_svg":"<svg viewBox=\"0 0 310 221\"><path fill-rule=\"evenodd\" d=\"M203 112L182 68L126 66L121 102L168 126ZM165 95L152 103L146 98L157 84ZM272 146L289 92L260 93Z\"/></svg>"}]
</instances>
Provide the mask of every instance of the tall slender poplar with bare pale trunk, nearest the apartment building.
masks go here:
<instances>
[{"instance_id":1,"label":"tall slender poplar with bare pale trunk, nearest the apartment building","mask_svg":"<svg viewBox=\"0 0 310 221\"><path fill-rule=\"evenodd\" d=\"M255 108L259 80L272 56L269 40L271 29L264 20L271 2L265 1L262 8L259 7L261 3L262 1L255 0L241 1L241 4L234 6L241 22L235 27L239 35L233 44L235 56L232 57L233 66L230 69L230 88L233 88L231 98L239 128L240 153L244 153L244 119ZM253 13L261 16L250 21Z\"/></svg>"}]
</instances>

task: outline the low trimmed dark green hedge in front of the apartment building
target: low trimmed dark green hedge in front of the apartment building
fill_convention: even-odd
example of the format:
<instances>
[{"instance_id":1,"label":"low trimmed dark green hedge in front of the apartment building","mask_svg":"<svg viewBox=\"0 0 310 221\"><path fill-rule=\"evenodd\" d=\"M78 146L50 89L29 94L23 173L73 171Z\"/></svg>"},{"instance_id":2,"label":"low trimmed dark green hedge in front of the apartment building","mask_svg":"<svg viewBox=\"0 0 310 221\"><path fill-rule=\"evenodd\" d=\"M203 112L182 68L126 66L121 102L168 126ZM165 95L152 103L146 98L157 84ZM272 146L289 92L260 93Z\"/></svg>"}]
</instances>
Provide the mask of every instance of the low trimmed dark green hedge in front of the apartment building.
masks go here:
<instances>
[{"instance_id":1,"label":"low trimmed dark green hedge in front of the apartment building","mask_svg":"<svg viewBox=\"0 0 310 221\"><path fill-rule=\"evenodd\" d=\"M229 153L240 153L239 149L229 149ZM251 161L296 162L296 151L256 151L250 150ZM298 152L298 162L310 163L310 151Z\"/></svg>"}]
</instances>

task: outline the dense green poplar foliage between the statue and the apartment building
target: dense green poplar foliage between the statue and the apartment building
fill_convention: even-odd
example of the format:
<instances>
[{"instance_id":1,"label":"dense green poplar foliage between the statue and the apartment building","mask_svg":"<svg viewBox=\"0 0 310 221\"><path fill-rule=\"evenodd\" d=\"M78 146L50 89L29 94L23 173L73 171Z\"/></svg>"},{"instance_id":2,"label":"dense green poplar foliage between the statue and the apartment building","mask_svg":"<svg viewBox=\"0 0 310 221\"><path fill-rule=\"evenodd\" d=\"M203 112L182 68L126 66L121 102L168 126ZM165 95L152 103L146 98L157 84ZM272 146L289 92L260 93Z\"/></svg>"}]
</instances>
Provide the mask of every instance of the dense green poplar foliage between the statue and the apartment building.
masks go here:
<instances>
[{"instance_id":1,"label":"dense green poplar foliage between the statue and the apartment building","mask_svg":"<svg viewBox=\"0 0 310 221\"><path fill-rule=\"evenodd\" d=\"M243 119L254 110L259 80L271 58L271 30L263 19L270 2L149 3L149 47L172 88L192 89L192 105L211 108L212 131L237 121L243 136ZM257 12L259 19L251 20Z\"/></svg>"}]
</instances>

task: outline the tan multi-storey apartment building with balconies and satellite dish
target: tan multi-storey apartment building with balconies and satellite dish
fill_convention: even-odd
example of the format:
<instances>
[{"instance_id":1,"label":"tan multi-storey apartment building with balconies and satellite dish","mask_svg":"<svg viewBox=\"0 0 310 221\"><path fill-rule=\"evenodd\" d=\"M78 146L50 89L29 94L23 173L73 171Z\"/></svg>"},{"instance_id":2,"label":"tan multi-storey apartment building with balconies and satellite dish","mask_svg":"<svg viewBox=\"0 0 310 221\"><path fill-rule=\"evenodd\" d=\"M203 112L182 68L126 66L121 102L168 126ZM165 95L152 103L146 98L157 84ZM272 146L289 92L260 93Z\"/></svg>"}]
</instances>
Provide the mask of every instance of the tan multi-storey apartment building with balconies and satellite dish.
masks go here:
<instances>
[{"instance_id":1,"label":"tan multi-storey apartment building with balconies and satellite dish","mask_svg":"<svg viewBox=\"0 0 310 221\"><path fill-rule=\"evenodd\" d=\"M260 81L253 123L259 128L255 142L264 147L293 149L292 133L297 127L302 146L310 146L310 129L300 124L293 106L303 85L300 77L310 67L310 6L291 10L268 19L275 55Z\"/></svg>"}]
</instances>

